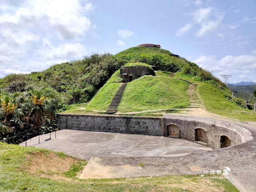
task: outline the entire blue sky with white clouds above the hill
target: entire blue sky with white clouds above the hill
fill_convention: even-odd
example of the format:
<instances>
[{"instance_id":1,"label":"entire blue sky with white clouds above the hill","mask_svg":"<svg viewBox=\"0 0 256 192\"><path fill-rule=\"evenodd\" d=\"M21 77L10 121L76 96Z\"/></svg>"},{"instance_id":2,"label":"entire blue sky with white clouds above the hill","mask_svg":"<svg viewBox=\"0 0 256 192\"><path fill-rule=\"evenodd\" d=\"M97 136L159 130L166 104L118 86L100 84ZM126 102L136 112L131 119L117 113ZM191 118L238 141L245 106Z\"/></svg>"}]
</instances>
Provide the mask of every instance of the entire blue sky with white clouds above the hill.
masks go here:
<instances>
[{"instance_id":1,"label":"entire blue sky with white clouds above the hill","mask_svg":"<svg viewBox=\"0 0 256 192\"><path fill-rule=\"evenodd\" d=\"M256 82L255 0L1 0L0 78L160 44L230 83Z\"/></svg>"}]
</instances>

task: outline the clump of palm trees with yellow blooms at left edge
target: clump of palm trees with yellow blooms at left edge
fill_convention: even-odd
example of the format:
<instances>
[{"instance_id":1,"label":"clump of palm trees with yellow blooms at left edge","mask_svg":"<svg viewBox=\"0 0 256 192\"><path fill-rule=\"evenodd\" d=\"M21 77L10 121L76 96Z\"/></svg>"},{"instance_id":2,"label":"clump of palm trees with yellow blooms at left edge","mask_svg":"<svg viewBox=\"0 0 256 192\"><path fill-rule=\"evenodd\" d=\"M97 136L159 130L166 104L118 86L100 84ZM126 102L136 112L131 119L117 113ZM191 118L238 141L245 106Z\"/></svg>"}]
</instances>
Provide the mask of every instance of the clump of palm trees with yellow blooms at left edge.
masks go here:
<instances>
[{"instance_id":1,"label":"clump of palm trees with yellow blooms at left edge","mask_svg":"<svg viewBox=\"0 0 256 192\"><path fill-rule=\"evenodd\" d=\"M57 106L56 99L46 88L29 87L28 92L2 94L0 105L0 132L17 132L26 126L40 128L46 120L52 121Z\"/></svg>"}]
</instances>

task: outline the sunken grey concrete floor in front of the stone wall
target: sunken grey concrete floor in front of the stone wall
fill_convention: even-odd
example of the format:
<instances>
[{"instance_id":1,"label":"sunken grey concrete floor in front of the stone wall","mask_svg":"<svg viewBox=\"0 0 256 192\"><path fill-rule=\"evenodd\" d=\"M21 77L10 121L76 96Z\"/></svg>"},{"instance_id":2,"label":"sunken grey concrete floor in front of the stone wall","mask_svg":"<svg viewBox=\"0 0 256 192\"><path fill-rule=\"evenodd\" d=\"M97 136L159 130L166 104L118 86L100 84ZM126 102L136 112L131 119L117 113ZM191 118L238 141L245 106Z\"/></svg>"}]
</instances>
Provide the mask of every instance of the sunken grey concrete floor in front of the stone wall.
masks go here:
<instances>
[{"instance_id":1,"label":"sunken grey concrete floor in front of the stone wall","mask_svg":"<svg viewBox=\"0 0 256 192\"><path fill-rule=\"evenodd\" d=\"M38 136L27 141L27 146L46 148L89 160L91 157L184 156L193 152L212 150L194 142L133 134L60 130L55 134ZM20 144L25 146L25 142Z\"/></svg>"}]
</instances>

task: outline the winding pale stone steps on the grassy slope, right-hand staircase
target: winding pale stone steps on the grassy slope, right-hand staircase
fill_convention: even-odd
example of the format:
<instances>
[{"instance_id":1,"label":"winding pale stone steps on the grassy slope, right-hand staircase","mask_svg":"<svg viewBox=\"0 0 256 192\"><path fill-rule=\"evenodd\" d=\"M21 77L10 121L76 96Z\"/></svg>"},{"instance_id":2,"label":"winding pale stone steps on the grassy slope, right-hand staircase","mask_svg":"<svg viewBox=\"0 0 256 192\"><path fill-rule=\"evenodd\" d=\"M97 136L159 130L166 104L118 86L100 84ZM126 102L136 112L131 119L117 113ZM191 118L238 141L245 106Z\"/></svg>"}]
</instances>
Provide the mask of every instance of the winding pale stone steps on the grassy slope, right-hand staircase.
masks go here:
<instances>
[{"instance_id":1,"label":"winding pale stone steps on the grassy slope, right-hand staircase","mask_svg":"<svg viewBox=\"0 0 256 192\"><path fill-rule=\"evenodd\" d=\"M187 94L188 94L188 98L190 100L190 105L188 106L188 108L200 107L200 100L198 99L198 96L196 95L197 84L193 84L193 83L191 83L187 80L184 80L182 78L178 78L178 79L188 83Z\"/></svg>"}]
</instances>

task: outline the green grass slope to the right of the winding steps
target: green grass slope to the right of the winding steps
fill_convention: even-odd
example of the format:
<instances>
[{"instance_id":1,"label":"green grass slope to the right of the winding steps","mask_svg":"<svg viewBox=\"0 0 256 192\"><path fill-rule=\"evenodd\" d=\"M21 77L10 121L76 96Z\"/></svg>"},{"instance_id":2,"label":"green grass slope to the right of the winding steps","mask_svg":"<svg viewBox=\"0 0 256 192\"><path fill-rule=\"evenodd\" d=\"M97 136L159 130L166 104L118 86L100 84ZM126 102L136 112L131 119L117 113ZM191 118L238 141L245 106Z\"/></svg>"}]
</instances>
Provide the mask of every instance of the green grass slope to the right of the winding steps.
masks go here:
<instances>
[{"instance_id":1,"label":"green grass slope to the right of the winding steps","mask_svg":"<svg viewBox=\"0 0 256 192\"><path fill-rule=\"evenodd\" d=\"M242 108L225 97L225 94L231 94L228 89L220 90L208 83L197 83L197 90L206 110L233 120L256 121L256 113L253 110Z\"/></svg>"}]
</instances>

